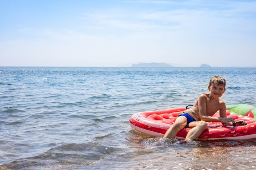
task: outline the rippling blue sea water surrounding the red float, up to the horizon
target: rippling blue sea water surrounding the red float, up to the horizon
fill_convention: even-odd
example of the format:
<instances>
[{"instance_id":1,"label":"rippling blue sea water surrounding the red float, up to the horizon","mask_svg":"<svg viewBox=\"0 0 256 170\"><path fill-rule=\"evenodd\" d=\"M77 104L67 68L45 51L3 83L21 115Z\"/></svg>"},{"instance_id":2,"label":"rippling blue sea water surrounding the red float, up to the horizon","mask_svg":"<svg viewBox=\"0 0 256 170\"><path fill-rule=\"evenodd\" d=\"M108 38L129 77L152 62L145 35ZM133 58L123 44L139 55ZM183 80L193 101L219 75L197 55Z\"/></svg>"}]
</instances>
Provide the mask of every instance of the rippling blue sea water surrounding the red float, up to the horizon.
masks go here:
<instances>
[{"instance_id":1,"label":"rippling blue sea water surrounding the red float, up to the horizon","mask_svg":"<svg viewBox=\"0 0 256 170\"><path fill-rule=\"evenodd\" d=\"M250 170L256 140L163 140L132 114L194 104L209 79L256 107L256 68L0 67L0 169Z\"/></svg>"}]
</instances>

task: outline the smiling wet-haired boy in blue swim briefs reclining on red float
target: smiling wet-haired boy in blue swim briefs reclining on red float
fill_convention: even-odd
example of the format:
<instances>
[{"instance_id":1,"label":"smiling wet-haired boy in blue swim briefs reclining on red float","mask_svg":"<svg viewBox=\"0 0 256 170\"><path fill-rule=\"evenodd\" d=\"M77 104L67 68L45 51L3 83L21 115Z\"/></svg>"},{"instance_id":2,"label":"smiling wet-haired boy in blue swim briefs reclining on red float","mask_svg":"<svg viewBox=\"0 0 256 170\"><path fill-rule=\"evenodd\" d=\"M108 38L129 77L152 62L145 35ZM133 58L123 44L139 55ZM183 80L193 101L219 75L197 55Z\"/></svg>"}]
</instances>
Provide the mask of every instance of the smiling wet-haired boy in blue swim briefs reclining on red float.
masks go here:
<instances>
[{"instance_id":1,"label":"smiling wet-haired boy in blue swim briefs reclining on red float","mask_svg":"<svg viewBox=\"0 0 256 170\"><path fill-rule=\"evenodd\" d=\"M189 130L187 139L196 139L207 128L206 122L222 122L223 125L232 125L235 119L227 117L226 105L220 99L226 91L226 80L219 76L213 76L209 82L208 89L210 93L202 94L195 101L192 108L181 113L174 124L167 130L164 138L175 138L177 132L183 128L192 128ZM220 111L220 117L212 117L214 113ZM243 121L243 125L247 124Z\"/></svg>"}]
</instances>

